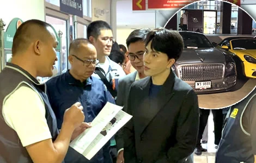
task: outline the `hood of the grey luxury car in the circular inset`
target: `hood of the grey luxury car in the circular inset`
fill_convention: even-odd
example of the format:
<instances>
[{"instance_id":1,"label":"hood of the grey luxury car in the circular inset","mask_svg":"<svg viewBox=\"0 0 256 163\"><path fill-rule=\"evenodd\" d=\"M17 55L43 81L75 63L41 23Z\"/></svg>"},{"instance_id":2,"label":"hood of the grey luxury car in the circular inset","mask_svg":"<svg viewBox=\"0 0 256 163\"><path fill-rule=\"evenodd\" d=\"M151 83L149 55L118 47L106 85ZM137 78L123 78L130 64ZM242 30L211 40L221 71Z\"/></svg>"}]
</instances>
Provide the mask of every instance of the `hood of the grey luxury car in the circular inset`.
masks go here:
<instances>
[{"instance_id":1,"label":"hood of the grey luxury car in the circular inset","mask_svg":"<svg viewBox=\"0 0 256 163\"><path fill-rule=\"evenodd\" d=\"M217 48L185 48L176 64L225 63L225 56Z\"/></svg>"}]
</instances>

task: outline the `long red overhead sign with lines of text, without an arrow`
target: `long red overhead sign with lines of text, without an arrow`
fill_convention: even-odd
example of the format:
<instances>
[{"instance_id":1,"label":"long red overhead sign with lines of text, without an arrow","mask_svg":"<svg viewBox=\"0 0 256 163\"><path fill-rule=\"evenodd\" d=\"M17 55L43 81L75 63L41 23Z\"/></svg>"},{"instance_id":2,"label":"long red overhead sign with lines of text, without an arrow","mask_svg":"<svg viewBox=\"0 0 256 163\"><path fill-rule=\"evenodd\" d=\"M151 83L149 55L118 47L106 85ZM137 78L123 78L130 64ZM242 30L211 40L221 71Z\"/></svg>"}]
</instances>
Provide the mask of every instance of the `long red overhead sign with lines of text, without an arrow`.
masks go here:
<instances>
[{"instance_id":1,"label":"long red overhead sign with lines of text, without an arrow","mask_svg":"<svg viewBox=\"0 0 256 163\"><path fill-rule=\"evenodd\" d=\"M148 0L148 9L183 8L198 0Z\"/></svg>"}]
</instances>

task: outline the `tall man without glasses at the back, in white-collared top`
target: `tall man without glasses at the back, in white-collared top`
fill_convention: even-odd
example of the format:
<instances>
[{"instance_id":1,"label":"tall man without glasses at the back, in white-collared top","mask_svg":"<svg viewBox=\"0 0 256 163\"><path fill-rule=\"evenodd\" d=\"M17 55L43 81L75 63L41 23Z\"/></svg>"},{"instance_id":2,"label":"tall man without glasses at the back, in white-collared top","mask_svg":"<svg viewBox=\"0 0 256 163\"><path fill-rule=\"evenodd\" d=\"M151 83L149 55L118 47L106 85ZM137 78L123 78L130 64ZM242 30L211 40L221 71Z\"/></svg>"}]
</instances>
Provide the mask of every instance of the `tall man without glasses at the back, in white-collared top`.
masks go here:
<instances>
[{"instance_id":1,"label":"tall man without glasses at the back, in white-collared top","mask_svg":"<svg viewBox=\"0 0 256 163\"><path fill-rule=\"evenodd\" d=\"M87 27L87 37L95 46L99 64L96 65L94 77L102 80L113 98L117 96L118 79L126 74L123 68L109 59L111 48L115 42L112 28L105 21L94 21Z\"/></svg>"}]
</instances>

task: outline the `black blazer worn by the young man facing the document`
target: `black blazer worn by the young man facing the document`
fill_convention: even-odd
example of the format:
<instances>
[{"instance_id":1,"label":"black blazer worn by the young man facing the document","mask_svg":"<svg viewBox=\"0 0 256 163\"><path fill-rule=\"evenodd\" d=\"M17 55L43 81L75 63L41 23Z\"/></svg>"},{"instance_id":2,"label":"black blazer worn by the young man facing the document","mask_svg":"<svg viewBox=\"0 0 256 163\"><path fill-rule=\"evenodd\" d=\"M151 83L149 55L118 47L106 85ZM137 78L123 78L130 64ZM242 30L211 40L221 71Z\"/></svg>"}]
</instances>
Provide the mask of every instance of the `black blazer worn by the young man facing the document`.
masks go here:
<instances>
[{"instance_id":1,"label":"black blazer worn by the young man facing the document","mask_svg":"<svg viewBox=\"0 0 256 163\"><path fill-rule=\"evenodd\" d=\"M127 113L133 117L120 132L125 162L184 162L196 147L197 95L172 71L154 99L151 83L146 77L131 85Z\"/></svg>"}]
</instances>

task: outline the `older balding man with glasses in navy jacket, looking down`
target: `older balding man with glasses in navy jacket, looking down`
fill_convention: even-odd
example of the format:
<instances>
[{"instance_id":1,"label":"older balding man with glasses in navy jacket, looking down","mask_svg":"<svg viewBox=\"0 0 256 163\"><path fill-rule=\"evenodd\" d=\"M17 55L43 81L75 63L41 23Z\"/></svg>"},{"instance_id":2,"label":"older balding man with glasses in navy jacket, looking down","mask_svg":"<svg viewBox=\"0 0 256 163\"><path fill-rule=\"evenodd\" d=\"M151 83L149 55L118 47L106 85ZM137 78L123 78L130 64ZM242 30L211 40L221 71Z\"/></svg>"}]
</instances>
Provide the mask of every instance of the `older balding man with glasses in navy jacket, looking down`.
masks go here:
<instances>
[{"instance_id":1,"label":"older balding man with glasses in navy jacket, looking down","mask_svg":"<svg viewBox=\"0 0 256 163\"><path fill-rule=\"evenodd\" d=\"M70 70L48 80L47 95L57 118L60 129L65 109L74 102L83 106L85 122L92 122L107 102L114 103L114 99L107 91L101 80L91 77L97 64L96 49L87 39L76 39L70 43ZM108 143L90 161L83 155L69 148L66 162L113 162L109 154Z\"/></svg>"}]
</instances>

